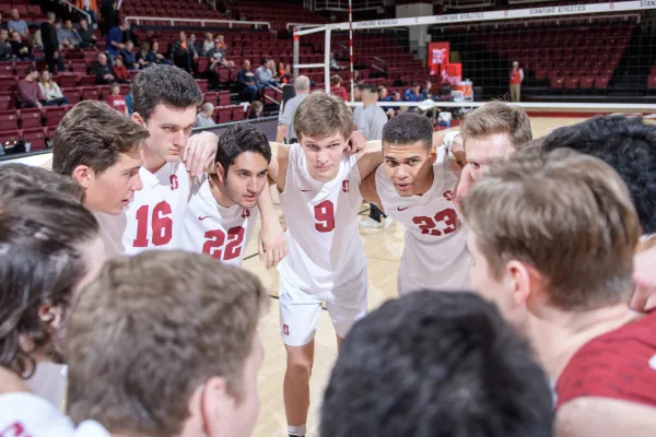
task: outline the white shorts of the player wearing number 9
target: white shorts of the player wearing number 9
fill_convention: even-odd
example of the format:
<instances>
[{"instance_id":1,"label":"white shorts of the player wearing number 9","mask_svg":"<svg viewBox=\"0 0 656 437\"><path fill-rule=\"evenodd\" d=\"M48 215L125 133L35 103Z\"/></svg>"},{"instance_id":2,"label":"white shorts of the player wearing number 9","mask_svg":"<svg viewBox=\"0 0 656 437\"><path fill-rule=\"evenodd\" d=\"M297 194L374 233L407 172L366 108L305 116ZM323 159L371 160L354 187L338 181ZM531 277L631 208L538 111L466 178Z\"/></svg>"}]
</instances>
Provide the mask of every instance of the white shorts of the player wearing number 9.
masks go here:
<instances>
[{"instance_id":1,"label":"white shorts of the player wearing number 9","mask_svg":"<svg viewBox=\"0 0 656 437\"><path fill-rule=\"evenodd\" d=\"M343 339L351 327L366 315L366 269L338 290L320 293L300 290L280 276L280 332L283 343L303 346L314 339L323 302L326 302L335 332Z\"/></svg>"}]
</instances>

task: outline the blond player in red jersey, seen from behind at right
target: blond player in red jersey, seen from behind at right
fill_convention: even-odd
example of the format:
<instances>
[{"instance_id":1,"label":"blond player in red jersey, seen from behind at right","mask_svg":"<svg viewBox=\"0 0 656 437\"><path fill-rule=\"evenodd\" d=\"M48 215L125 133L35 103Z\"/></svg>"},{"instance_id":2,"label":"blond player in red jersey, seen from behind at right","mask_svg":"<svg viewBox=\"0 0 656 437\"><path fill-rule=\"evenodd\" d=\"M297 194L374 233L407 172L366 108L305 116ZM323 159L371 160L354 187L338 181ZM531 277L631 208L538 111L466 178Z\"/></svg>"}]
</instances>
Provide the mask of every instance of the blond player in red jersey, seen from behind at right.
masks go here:
<instances>
[{"instance_id":1,"label":"blond player in red jersey, seen from behind at right","mask_svg":"<svg viewBox=\"0 0 656 437\"><path fill-rule=\"evenodd\" d=\"M641 227L618 174L566 149L517 152L462 211L472 285L555 381L557 434L655 435L656 314L629 308Z\"/></svg>"}]
</instances>

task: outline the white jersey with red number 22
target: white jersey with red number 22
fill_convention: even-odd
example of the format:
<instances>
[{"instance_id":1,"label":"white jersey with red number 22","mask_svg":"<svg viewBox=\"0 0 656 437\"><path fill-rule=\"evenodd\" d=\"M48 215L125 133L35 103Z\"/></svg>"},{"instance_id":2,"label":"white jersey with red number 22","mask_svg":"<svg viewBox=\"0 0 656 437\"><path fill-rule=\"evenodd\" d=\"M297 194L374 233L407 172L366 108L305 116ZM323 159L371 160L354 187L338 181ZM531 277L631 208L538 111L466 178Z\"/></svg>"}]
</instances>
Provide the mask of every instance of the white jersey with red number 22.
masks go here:
<instances>
[{"instance_id":1,"label":"white jersey with red number 22","mask_svg":"<svg viewBox=\"0 0 656 437\"><path fill-rule=\"evenodd\" d=\"M219 204L212 196L209 176L203 175L191 184L183 248L211 255L226 264L242 265L257 216L257 208Z\"/></svg>"}]
</instances>

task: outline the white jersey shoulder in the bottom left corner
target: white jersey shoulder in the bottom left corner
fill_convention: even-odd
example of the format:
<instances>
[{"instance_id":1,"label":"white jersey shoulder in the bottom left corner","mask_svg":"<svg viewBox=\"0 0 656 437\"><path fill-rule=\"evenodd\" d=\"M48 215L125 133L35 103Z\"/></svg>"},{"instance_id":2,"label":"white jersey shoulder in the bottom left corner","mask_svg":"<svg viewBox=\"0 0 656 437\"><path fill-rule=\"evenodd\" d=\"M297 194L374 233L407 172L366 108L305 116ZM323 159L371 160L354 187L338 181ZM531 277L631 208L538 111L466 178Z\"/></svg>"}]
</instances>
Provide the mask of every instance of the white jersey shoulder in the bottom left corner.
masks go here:
<instances>
[{"instance_id":1,"label":"white jersey shoulder in the bottom left corner","mask_svg":"<svg viewBox=\"0 0 656 437\"><path fill-rule=\"evenodd\" d=\"M0 394L0 437L110 437L97 422L73 422L33 393Z\"/></svg>"}]
</instances>

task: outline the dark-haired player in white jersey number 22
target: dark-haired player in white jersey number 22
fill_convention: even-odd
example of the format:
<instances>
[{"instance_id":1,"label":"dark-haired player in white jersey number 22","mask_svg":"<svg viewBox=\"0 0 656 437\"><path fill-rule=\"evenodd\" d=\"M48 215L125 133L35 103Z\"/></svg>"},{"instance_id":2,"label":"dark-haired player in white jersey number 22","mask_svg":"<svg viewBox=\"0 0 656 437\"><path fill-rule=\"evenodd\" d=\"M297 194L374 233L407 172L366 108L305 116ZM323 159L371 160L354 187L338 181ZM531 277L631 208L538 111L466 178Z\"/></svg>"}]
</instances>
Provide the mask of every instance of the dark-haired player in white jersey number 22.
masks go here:
<instances>
[{"instance_id":1,"label":"dark-haired player in white jersey number 22","mask_svg":"<svg viewBox=\"0 0 656 437\"><path fill-rule=\"evenodd\" d=\"M258 217L257 200L269 189L270 162L269 141L253 125L232 126L221 134L216 173L202 175L191 185L185 250L203 252L227 264L242 264Z\"/></svg>"}]
</instances>

